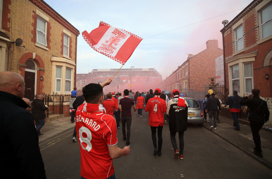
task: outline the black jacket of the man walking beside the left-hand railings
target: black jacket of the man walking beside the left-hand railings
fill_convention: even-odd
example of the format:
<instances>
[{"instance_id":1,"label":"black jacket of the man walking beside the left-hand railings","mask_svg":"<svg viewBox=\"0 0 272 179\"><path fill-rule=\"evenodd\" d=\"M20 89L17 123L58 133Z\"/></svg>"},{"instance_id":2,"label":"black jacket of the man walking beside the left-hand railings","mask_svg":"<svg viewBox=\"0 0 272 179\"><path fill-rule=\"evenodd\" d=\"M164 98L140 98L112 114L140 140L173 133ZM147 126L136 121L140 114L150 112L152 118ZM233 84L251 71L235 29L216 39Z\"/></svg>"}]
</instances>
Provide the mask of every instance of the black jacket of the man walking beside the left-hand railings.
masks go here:
<instances>
[{"instance_id":1,"label":"black jacket of the man walking beside the left-hand railings","mask_svg":"<svg viewBox=\"0 0 272 179\"><path fill-rule=\"evenodd\" d=\"M47 110L47 107L45 107L44 101L38 98L34 99L31 113L35 121L45 119L45 110Z\"/></svg>"}]
</instances>

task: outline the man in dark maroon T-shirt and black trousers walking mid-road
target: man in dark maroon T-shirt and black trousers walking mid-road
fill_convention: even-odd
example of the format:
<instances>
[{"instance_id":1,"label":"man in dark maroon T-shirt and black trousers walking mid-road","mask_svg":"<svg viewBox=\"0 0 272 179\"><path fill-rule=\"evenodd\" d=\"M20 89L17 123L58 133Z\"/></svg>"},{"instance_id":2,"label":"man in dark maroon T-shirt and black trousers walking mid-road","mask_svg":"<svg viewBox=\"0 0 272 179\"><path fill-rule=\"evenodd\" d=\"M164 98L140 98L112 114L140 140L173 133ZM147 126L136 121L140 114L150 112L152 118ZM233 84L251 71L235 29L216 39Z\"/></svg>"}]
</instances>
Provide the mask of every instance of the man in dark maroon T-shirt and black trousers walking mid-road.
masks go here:
<instances>
[{"instance_id":1,"label":"man in dark maroon T-shirt and black trousers walking mid-road","mask_svg":"<svg viewBox=\"0 0 272 179\"><path fill-rule=\"evenodd\" d=\"M124 98L120 99L119 109L121 112L122 121L122 133L123 139L126 140L126 145L130 146L131 137L131 123L132 123L132 113L131 107L136 111L133 98L129 97L129 89L124 90ZM126 124L127 124L127 134L126 134Z\"/></svg>"}]
</instances>

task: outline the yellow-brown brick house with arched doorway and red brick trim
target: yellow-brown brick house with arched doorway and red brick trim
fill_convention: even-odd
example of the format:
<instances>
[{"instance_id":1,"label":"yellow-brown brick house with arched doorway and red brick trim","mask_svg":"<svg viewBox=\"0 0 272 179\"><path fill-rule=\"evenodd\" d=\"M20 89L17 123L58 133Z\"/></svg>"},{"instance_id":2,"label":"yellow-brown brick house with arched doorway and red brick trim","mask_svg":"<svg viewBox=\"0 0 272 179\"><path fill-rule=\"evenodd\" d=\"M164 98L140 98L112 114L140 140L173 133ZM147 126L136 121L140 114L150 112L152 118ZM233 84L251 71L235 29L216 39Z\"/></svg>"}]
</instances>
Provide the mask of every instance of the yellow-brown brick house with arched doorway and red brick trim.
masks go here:
<instances>
[{"instance_id":1,"label":"yellow-brown brick house with arched doorway and red brick trim","mask_svg":"<svg viewBox=\"0 0 272 179\"><path fill-rule=\"evenodd\" d=\"M25 79L25 97L75 87L79 31L44 0L0 0L0 71Z\"/></svg>"}]
</instances>

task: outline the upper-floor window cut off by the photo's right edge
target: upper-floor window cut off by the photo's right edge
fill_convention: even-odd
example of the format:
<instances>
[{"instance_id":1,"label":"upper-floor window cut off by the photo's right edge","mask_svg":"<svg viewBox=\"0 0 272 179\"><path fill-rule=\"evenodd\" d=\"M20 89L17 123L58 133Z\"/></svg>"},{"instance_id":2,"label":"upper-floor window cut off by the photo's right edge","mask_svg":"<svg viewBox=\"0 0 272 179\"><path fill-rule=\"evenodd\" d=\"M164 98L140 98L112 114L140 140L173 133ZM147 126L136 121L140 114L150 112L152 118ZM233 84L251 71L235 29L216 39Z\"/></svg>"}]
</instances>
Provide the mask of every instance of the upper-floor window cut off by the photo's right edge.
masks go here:
<instances>
[{"instance_id":1,"label":"upper-floor window cut off by the photo's right edge","mask_svg":"<svg viewBox=\"0 0 272 179\"><path fill-rule=\"evenodd\" d=\"M272 4L261 11L262 39L272 35Z\"/></svg>"}]
</instances>

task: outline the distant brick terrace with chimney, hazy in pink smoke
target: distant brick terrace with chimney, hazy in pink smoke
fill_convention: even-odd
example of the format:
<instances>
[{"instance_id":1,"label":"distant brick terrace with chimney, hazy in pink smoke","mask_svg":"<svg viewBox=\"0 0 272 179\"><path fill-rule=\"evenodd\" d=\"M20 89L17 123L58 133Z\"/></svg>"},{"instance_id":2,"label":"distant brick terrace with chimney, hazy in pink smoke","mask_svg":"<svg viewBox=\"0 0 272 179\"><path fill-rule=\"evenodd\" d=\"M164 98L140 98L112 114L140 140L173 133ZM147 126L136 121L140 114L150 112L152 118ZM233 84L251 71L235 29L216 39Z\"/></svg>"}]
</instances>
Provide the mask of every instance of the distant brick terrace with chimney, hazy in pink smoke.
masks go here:
<instances>
[{"instance_id":1,"label":"distant brick terrace with chimney, hazy in pink smoke","mask_svg":"<svg viewBox=\"0 0 272 179\"><path fill-rule=\"evenodd\" d=\"M196 55L189 54L187 60L167 77L160 87L170 92L179 89L183 93L190 89L195 94L199 92L199 95L191 97L203 98L204 87L210 84L209 78L216 77L215 60L223 55L223 50L218 47L218 40L209 40L206 46L205 50Z\"/></svg>"}]
</instances>

